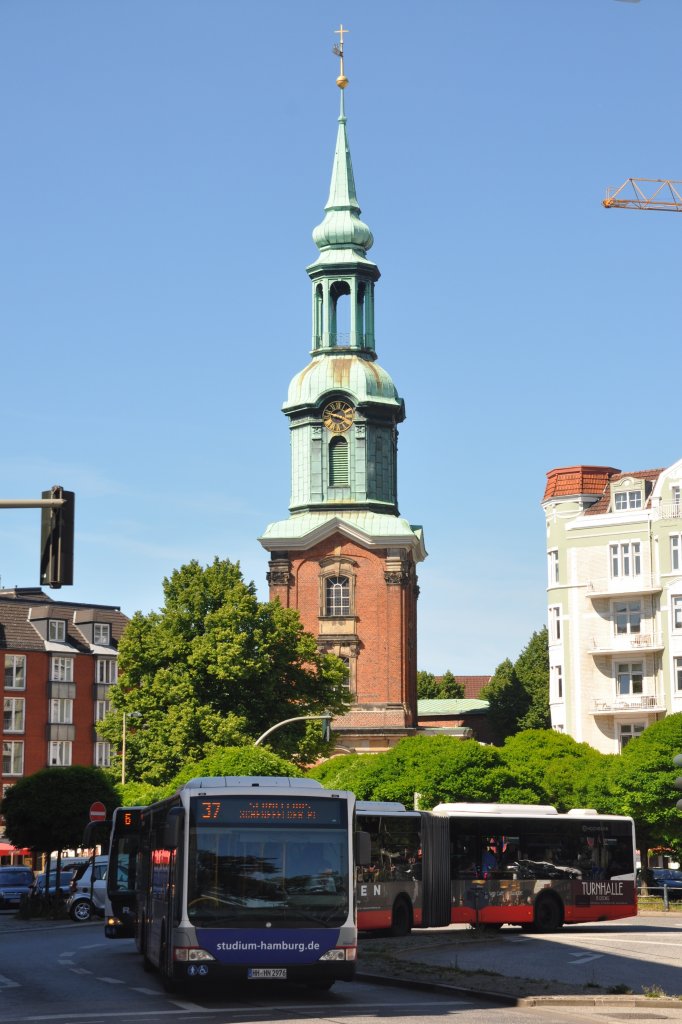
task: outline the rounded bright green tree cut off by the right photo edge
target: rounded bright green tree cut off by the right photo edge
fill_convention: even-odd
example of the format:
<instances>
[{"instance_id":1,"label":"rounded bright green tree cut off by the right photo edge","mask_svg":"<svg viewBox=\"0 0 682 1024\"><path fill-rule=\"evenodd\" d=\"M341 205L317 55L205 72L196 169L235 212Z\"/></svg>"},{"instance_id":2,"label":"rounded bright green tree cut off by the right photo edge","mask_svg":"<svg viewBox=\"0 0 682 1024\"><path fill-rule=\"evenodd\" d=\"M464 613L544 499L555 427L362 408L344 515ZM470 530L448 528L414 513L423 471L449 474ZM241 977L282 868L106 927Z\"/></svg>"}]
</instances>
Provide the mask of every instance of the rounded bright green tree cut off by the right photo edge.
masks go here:
<instances>
[{"instance_id":1,"label":"rounded bright green tree cut off by the right photo edge","mask_svg":"<svg viewBox=\"0 0 682 1024\"><path fill-rule=\"evenodd\" d=\"M682 713L668 715L631 739L613 761L611 790L621 814L635 819L637 841L645 866L646 852L656 846L682 854L682 814L673 783L679 769L673 757L682 751Z\"/></svg>"}]
</instances>

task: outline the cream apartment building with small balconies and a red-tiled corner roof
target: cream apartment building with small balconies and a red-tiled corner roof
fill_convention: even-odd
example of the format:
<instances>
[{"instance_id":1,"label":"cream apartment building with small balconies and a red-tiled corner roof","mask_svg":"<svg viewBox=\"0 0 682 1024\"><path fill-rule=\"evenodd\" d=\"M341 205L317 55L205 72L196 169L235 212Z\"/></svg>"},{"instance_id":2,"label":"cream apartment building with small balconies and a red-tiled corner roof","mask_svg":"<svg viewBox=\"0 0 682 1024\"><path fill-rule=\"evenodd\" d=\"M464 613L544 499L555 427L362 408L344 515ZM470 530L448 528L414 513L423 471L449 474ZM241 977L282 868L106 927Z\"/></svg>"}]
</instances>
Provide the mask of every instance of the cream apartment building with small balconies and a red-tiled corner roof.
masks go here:
<instances>
[{"instance_id":1,"label":"cream apartment building with small balconies and a red-tiled corner roof","mask_svg":"<svg viewBox=\"0 0 682 1024\"><path fill-rule=\"evenodd\" d=\"M607 754L682 711L682 460L547 474L552 727Z\"/></svg>"}]
</instances>

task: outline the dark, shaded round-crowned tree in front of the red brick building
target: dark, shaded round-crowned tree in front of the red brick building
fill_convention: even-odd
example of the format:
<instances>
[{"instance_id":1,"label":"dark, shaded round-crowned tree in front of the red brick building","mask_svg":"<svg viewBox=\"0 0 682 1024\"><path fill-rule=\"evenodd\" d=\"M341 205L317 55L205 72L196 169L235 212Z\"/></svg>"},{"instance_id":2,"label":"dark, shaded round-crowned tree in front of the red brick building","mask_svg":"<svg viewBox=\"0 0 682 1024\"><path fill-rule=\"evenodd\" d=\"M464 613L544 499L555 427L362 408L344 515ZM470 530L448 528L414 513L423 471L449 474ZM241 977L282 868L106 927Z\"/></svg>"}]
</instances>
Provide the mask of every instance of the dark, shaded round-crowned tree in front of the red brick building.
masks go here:
<instances>
[{"instance_id":1,"label":"dark, shaded round-crowned tree in front of the red brick building","mask_svg":"<svg viewBox=\"0 0 682 1024\"><path fill-rule=\"evenodd\" d=\"M0 803L0 814L10 843L49 855L82 844L95 801L108 814L119 803L112 778L101 769L43 768L16 780Z\"/></svg>"}]
</instances>

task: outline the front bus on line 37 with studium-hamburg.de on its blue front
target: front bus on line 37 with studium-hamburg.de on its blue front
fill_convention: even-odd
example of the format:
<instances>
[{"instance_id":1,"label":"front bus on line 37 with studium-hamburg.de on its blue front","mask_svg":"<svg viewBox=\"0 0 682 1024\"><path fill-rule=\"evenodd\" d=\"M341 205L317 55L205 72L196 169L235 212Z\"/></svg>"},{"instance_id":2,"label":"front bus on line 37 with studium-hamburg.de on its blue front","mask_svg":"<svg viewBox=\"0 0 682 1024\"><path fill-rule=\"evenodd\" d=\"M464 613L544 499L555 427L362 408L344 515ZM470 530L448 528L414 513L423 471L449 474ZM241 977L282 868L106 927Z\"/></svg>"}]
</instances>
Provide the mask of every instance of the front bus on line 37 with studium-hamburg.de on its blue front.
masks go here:
<instances>
[{"instance_id":1,"label":"front bus on line 37 with studium-hamburg.de on its blue front","mask_svg":"<svg viewBox=\"0 0 682 1024\"><path fill-rule=\"evenodd\" d=\"M319 989L350 980L355 845L364 859L354 819L353 794L299 778L196 778L142 808L135 940L145 967L169 988L218 976Z\"/></svg>"}]
</instances>

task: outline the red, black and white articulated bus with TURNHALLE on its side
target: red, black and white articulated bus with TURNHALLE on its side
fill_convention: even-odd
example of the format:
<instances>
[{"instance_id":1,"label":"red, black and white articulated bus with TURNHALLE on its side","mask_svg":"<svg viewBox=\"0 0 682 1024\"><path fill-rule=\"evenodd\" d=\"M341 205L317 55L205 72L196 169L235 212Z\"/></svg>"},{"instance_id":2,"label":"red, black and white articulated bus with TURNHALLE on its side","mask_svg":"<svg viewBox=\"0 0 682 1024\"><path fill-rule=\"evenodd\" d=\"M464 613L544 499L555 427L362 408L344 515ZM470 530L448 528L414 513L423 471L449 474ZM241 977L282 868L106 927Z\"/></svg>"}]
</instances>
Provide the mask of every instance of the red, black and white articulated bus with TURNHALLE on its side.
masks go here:
<instances>
[{"instance_id":1,"label":"red, black and white articulated bus with TURNHALLE on its side","mask_svg":"<svg viewBox=\"0 0 682 1024\"><path fill-rule=\"evenodd\" d=\"M520 804L438 804L432 812L361 802L372 862L358 868L361 930L563 924L637 913L631 818ZM444 830L443 830L444 829Z\"/></svg>"}]
</instances>

